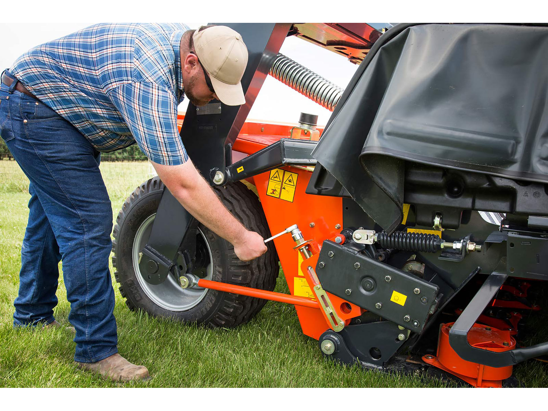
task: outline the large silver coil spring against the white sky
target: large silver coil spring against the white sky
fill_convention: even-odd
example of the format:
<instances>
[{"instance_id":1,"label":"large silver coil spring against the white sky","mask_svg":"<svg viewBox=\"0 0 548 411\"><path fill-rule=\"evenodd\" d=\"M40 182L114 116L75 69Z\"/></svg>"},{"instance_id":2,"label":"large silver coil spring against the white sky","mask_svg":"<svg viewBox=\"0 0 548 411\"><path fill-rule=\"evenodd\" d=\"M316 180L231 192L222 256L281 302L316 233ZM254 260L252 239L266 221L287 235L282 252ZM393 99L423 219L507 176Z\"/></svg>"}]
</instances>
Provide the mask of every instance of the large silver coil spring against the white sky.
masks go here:
<instances>
[{"instance_id":1,"label":"large silver coil spring against the white sky","mask_svg":"<svg viewBox=\"0 0 548 411\"><path fill-rule=\"evenodd\" d=\"M272 64L270 75L329 111L335 110L344 92L338 85L281 53Z\"/></svg>"}]
</instances>

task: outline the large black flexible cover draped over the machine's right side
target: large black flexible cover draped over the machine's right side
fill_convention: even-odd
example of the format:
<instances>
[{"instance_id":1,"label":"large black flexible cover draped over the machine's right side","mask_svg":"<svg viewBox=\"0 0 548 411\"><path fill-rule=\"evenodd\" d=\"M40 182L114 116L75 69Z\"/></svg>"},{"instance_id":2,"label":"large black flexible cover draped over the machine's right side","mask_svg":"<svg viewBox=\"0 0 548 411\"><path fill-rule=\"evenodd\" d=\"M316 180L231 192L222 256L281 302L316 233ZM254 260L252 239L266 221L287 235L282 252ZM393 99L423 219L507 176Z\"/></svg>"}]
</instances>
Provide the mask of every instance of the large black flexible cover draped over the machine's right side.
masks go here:
<instances>
[{"instance_id":1,"label":"large black flexible cover draped over the machine's right side","mask_svg":"<svg viewBox=\"0 0 548 411\"><path fill-rule=\"evenodd\" d=\"M404 161L546 183L546 67L546 26L395 26L313 156L389 232L402 219Z\"/></svg>"}]
</instances>

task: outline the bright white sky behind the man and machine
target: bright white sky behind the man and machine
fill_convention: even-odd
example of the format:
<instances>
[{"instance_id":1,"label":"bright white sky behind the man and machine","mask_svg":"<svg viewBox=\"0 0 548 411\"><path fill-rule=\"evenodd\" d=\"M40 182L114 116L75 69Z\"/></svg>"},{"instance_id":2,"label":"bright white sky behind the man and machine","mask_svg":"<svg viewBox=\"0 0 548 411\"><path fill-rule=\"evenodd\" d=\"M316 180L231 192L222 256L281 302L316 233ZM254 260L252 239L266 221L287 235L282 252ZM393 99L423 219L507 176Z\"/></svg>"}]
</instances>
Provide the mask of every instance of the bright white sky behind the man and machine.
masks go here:
<instances>
[{"instance_id":1,"label":"bright white sky behind the man and machine","mask_svg":"<svg viewBox=\"0 0 548 411\"><path fill-rule=\"evenodd\" d=\"M5 22L2 25L3 36L0 37L0 50L2 51L0 53L0 67L2 67L2 70L8 68L19 55L37 44L65 36L96 22L100 22L100 20L89 22L64 21L56 24L39 22L33 24L32 31L21 31L21 26L18 23ZM191 28L208 24L207 20L186 20L183 22ZM349 62L344 56L295 37L288 37L279 52L343 89L350 82L358 67ZM187 102L183 102L179 110L186 111L186 105ZM331 115L329 110L324 109L275 78L267 76L248 118L296 123L299 121L301 112L318 115L319 125L325 125Z\"/></svg>"}]
</instances>

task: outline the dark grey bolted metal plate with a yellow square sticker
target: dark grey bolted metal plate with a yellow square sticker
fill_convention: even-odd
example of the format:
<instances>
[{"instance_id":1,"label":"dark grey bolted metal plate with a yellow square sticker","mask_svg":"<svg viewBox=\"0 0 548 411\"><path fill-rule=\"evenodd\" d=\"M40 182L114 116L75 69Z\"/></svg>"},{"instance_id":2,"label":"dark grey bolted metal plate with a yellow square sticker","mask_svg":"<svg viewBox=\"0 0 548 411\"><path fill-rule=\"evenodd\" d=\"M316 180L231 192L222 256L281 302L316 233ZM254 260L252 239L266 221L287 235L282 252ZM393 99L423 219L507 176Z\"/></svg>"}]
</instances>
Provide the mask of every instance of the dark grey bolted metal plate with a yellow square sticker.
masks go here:
<instances>
[{"instance_id":1,"label":"dark grey bolted metal plate with a yellow square sticker","mask_svg":"<svg viewBox=\"0 0 548 411\"><path fill-rule=\"evenodd\" d=\"M323 242L316 273L329 293L415 333L437 304L435 284L329 240Z\"/></svg>"}]
</instances>

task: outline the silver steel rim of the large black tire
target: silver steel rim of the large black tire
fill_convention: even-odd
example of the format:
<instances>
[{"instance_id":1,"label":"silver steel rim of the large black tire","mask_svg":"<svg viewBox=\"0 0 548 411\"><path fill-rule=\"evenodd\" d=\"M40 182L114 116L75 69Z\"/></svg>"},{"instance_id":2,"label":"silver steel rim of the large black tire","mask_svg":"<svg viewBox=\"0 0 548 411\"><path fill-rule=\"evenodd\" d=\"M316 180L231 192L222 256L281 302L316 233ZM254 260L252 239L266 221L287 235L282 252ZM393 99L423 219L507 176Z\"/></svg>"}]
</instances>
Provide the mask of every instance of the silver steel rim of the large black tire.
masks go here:
<instances>
[{"instance_id":1,"label":"silver steel rim of the large black tire","mask_svg":"<svg viewBox=\"0 0 548 411\"><path fill-rule=\"evenodd\" d=\"M145 246L149 239L150 232L152 230L152 222L156 217L156 213L148 216L145 221L141 223L139 229L135 233L135 239L133 240L133 269L135 270L135 276L141 286L141 289L145 292L156 305L162 307L164 310L169 311L186 311L195 307L204 296L206 296L207 288L186 288L182 289L179 283L176 281L173 275L168 275L165 281L161 284L153 285L147 283L141 276L141 270L139 269L139 252ZM209 253L209 261L213 261L211 249L207 242L206 236L202 230L198 227L199 234L204 238L206 247ZM212 279L213 276L213 264L209 263L207 267L206 279Z\"/></svg>"}]
</instances>

